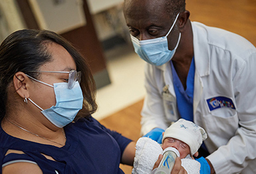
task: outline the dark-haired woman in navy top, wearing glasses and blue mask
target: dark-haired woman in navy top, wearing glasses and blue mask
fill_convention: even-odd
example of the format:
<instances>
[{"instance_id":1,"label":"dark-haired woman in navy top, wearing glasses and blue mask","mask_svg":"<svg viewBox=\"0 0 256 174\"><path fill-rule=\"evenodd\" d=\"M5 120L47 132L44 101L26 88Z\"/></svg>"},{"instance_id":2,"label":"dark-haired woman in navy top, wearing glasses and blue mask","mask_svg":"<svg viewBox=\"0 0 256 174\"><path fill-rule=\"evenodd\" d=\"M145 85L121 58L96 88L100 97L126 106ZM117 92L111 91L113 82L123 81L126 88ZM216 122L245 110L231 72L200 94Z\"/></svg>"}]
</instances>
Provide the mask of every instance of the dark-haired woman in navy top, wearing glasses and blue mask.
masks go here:
<instances>
[{"instance_id":1,"label":"dark-haired woman in navy top, wearing glasses and blue mask","mask_svg":"<svg viewBox=\"0 0 256 174\"><path fill-rule=\"evenodd\" d=\"M3 41L0 96L0 173L112 174L132 165L135 143L91 117L93 76L58 34L19 30Z\"/></svg>"}]
</instances>

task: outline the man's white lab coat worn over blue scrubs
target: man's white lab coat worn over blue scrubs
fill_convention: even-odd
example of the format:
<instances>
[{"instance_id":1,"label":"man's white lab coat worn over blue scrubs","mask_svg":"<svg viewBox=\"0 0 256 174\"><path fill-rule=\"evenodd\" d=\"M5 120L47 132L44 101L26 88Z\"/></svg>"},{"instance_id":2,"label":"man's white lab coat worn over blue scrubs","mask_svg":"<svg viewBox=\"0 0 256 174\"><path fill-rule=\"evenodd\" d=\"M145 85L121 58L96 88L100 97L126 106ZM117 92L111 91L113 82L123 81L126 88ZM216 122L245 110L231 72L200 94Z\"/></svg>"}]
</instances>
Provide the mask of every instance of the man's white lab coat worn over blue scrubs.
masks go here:
<instances>
[{"instance_id":1,"label":"man's white lab coat worn over blue scrubs","mask_svg":"<svg viewBox=\"0 0 256 174\"><path fill-rule=\"evenodd\" d=\"M194 43L194 123L208 138L208 159L216 173L256 173L256 49L237 34L192 23ZM166 129L179 119L170 63L146 64L142 134ZM167 86L167 87L165 87ZM163 88L165 87L165 92ZM168 89L166 91L166 89ZM222 96L235 109L210 110L208 99Z\"/></svg>"}]
</instances>

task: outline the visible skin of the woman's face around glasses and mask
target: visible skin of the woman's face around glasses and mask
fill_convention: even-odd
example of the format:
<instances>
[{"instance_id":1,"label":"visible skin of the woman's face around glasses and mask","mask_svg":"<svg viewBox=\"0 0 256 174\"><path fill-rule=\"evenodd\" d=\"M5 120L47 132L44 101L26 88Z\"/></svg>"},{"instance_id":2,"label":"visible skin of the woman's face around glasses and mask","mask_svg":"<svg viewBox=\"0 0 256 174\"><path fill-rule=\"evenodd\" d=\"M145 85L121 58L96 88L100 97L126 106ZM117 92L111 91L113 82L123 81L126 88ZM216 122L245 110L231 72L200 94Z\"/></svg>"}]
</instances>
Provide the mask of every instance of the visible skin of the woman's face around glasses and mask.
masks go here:
<instances>
[{"instance_id":1,"label":"visible skin of the woman's face around glasses and mask","mask_svg":"<svg viewBox=\"0 0 256 174\"><path fill-rule=\"evenodd\" d=\"M56 43L47 45L48 52L52 55L52 61L45 63L39 71L71 71L76 70L75 61L67 50ZM47 84L67 82L69 74L67 73L50 73L41 72L38 80ZM30 90L30 99L42 109L48 109L52 105L56 105L54 88L46 86L40 82L33 82L32 90Z\"/></svg>"}]
</instances>

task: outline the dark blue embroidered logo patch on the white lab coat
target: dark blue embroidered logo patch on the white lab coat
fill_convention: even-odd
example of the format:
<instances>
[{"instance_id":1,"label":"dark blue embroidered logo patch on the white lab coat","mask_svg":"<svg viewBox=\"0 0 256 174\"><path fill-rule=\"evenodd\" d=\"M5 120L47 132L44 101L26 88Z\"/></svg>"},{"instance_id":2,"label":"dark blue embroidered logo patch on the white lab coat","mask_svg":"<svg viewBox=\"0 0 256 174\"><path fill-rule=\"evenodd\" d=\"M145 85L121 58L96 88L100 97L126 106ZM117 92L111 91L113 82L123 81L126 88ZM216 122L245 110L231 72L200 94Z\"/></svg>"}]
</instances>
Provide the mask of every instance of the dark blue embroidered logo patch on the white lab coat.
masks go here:
<instances>
[{"instance_id":1,"label":"dark blue embroidered logo patch on the white lab coat","mask_svg":"<svg viewBox=\"0 0 256 174\"><path fill-rule=\"evenodd\" d=\"M209 98L206 100L210 111L214 109L222 108L222 107L230 107L231 109L235 109L235 105L230 98L218 96L215 98Z\"/></svg>"}]
</instances>

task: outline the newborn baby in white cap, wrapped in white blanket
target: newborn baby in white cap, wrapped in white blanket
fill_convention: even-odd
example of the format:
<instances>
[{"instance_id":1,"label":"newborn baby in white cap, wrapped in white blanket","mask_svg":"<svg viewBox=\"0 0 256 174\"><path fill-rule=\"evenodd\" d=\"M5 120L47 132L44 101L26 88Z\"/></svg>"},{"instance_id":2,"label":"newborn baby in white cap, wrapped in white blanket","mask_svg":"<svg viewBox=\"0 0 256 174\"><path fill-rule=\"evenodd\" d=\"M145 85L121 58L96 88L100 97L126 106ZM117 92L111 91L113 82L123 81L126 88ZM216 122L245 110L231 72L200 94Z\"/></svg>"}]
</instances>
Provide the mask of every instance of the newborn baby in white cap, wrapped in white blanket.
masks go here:
<instances>
[{"instance_id":1,"label":"newborn baby in white cap, wrapped in white blanket","mask_svg":"<svg viewBox=\"0 0 256 174\"><path fill-rule=\"evenodd\" d=\"M200 163L193 160L192 156L198 156L198 148L206 138L207 134L202 127L191 121L179 119L163 133L163 144L158 144L147 137L142 137L137 141L132 173L151 173L159 154L162 154L163 150L168 147L179 151L182 165L188 173L199 173Z\"/></svg>"}]
</instances>

